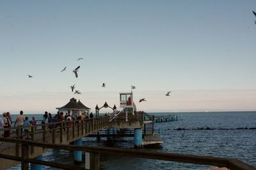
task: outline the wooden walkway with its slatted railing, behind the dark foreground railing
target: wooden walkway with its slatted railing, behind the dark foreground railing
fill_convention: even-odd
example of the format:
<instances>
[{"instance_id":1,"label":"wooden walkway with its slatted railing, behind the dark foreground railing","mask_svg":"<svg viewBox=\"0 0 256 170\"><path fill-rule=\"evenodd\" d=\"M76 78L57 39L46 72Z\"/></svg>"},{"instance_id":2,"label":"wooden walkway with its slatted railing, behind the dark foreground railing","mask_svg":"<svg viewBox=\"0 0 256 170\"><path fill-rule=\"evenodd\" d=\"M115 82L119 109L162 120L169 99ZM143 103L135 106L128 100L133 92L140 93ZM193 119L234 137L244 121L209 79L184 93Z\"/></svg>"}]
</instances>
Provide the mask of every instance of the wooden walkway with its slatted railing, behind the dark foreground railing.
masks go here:
<instances>
[{"instance_id":1,"label":"wooden walkway with its slatted railing, behind the dark foreground railing","mask_svg":"<svg viewBox=\"0 0 256 170\"><path fill-rule=\"evenodd\" d=\"M11 139L24 139L26 136L29 136L29 141L35 141L38 143L67 144L71 143L72 141L76 141L77 139L81 139L84 136L88 136L93 132L105 129L108 127L108 125L108 117L99 117L87 119L84 121L79 120L33 125L31 126L31 132L29 132L29 134L23 133L22 135L20 134L21 127L12 127L9 129L11 131L16 131L16 133L11 134ZM6 131L8 129L4 130ZM42 155L42 153L47 152L48 150L49 148L38 148L30 146L28 157L37 157L38 155ZM22 147L19 145L19 143L15 144L3 142L3 145L0 145L0 153L20 157L22 156ZM0 169L7 169L8 167L13 167L17 164L20 164L20 162L0 159Z\"/></svg>"}]
</instances>

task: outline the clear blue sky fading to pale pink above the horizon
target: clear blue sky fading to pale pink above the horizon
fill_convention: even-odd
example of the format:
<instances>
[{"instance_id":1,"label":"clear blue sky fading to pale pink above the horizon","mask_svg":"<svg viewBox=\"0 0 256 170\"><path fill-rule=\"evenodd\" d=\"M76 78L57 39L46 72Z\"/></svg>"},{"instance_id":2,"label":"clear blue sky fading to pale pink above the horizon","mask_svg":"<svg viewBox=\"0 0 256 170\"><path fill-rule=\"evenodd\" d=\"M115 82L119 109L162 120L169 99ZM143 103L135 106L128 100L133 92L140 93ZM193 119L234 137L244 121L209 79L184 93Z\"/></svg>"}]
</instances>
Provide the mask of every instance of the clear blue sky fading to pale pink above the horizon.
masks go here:
<instances>
[{"instance_id":1,"label":"clear blue sky fading to pale pink above the horizon","mask_svg":"<svg viewBox=\"0 0 256 170\"><path fill-rule=\"evenodd\" d=\"M255 0L0 1L0 111L56 113L75 97L94 113L131 85L138 110L254 111L252 10Z\"/></svg>"}]
</instances>

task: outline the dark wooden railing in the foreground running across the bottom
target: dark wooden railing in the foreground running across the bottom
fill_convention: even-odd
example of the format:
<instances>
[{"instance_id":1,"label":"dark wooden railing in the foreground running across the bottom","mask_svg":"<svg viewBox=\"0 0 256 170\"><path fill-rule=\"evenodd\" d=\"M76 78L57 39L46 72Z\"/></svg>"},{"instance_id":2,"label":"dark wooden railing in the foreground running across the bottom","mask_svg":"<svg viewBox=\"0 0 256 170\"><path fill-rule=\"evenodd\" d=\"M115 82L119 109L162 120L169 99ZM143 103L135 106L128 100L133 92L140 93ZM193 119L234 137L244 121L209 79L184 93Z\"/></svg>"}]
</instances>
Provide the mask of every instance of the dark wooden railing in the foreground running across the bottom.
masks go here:
<instances>
[{"instance_id":1,"label":"dark wooden railing in the foreground running across the bottom","mask_svg":"<svg viewBox=\"0 0 256 170\"><path fill-rule=\"evenodd\" d=\"M29 148L31 146L41 148L51 148L56 150L69 150L69 151L83 151L90 153L90 169L100 169L100 153L120 155L126 157L137 157L144 159L157 159L157 160L168 160L173 162L184 162L191 164L202 164L210 166L228 167L231 170L255 170L256 168L245 164L237 159L226 159L218 157L207 157L198 155L184 155L177 153L160 153L160 152L146 152L141 150L129 150L122 148L107 148L100 146L74 146L74 145L61 145L52 143L38 143L35 141L24 141L20 139L0 138L0 141L6 143L17 143L22 145L22 153L20 157L16 155L6 155L0 153L0 158L16 160L21 162L22 170L29 169L29 163L40 164L44 166L56 167L61 169L83 169L82 167L71 166L66 164L60 164L56 162L49 162L44 160L36 160L29 158Z\"/></svg>"}]
</instances>

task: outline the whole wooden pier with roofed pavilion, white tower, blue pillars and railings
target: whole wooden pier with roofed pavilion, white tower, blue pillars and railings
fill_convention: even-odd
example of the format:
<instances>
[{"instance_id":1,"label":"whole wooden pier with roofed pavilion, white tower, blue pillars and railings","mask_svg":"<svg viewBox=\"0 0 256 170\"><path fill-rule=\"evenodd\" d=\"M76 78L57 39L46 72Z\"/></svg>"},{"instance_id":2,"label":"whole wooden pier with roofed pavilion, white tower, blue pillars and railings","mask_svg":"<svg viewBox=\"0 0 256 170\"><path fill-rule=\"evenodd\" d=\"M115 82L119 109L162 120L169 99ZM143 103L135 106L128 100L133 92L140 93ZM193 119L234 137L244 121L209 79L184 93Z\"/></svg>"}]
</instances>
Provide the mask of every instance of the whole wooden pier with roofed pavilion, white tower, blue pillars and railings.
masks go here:
<instances>
[{"instance_id":1,"label":"whole wooden pier with roofed pavilion, white tower, blue pillars and railings","mask_svg":"<svg viewBox=\"0 0 256 170\"><path fill-rule=\"evenodd\" d=\"M79 113L84 106L76 99L70 99L70 103L61 107L61 110ZM0 170L13 167L21 163L21 169L40 170L42 165L57 167L61 169L82 169L81 167L58 164L42 160L42 154L52 150L69 150L74 152L74 162L81 163L82 153L86 155L86 169L100 169L100 154L115 154L120 156L159 159L174 162L185 162L193 164L204 164L211 166L225 166L230 169L253 169L255 167L244 164L239 160L223 159L216 157L205 157L195 155L182 155L175 153L145 152L140 150L127 150L120 148L82 146L82 138L90 136L100 138L132 137L134 148L142 148L147 145L159 145L163 143L160 135L154 131L157 122L171 122L178 120L176 115L154 116L143 111L136 111L132 102L132 92L120 93L120 110L114 106L113 113L100 116L101 108L111 108L105 103L102 107L96 106L94 118L84 120L54 122L50 124L31 125L31 131L22 134L22 127L11 127L0 129L0 131L12 131L10 138L0 138ZM182 117L180 117L182 120ZM25 139L25 138L29 139Z\"/></svg>"}]
</instances>

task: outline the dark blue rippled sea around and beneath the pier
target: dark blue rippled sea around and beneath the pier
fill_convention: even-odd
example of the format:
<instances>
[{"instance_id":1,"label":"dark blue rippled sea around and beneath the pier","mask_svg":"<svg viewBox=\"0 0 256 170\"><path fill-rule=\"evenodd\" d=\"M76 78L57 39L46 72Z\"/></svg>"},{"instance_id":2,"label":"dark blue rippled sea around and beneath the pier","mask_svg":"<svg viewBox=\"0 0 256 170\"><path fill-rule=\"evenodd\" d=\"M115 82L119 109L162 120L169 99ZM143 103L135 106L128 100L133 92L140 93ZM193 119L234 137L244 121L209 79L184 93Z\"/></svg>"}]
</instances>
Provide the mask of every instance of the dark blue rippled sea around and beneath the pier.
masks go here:
<instances>
[{"instance_id":1,"label":"dark blue rippled sea around and beneath the pier","mask_svg":"<svg viewBox=\"0 0 256 170\"><path fill-rule=\"evenodd\" d=\"M127 148L129 150L150 150L152 152L182 153L239 159L256 167L256 111L228 112L186 112L150 113L150 115L170 115L178 117L174 122L154 124L155 132L161 134L163 143L152 148L133 148L133 138L83 138L83 145ZM182 115L182 120L180 117ZM15 120L13 115L13 120ZM42 114L26 115L42 119ZM177 130L181 129L181 130ZM207 130L208 129L208 130ZM42 155L43 160L73 164L74 155L65 150L51 150ZM83 153L84 161L84 153ZM84 167L83 164L77 165ZM116 155L100 155L100 169L206 169L211 166L170 162L164 160L139 159ZM10 169L20 169L20 165ZM43 166L43 169L56 169Z\"/></svg>"}]
</instances>

